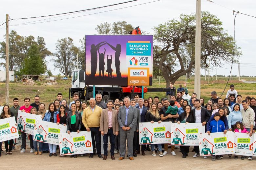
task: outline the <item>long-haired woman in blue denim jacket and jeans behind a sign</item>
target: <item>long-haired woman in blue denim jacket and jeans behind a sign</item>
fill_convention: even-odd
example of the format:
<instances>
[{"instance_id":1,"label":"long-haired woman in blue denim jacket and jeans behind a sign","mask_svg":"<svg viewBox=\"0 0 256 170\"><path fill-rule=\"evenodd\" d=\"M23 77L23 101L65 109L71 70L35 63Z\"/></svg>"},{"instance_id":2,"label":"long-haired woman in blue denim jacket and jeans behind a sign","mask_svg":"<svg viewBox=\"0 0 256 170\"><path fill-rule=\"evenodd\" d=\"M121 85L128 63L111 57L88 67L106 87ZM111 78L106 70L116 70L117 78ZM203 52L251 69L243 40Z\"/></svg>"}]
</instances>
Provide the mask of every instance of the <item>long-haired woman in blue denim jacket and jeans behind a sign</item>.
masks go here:
<instances>
[{"instance_id":1,"label":"long-haired woman in blue denim jacket and jeans behind a sign","mask_svg":"<svg viewBox=\"0 0 256 170\"><path fill-rule=\"evenodd\" d=\"M45 117L44 117L43 121L57 123L57 114L59 112L56 111L55 104L50 103L48 110L49 111L45 114ZM50 149L49 157L51 157L53 155L56 157L57 156L57 154L56 154L57 145L50 144L50 143L48 143L48 145L49 145L49 149Z\"/></svg>"}]
</instances>

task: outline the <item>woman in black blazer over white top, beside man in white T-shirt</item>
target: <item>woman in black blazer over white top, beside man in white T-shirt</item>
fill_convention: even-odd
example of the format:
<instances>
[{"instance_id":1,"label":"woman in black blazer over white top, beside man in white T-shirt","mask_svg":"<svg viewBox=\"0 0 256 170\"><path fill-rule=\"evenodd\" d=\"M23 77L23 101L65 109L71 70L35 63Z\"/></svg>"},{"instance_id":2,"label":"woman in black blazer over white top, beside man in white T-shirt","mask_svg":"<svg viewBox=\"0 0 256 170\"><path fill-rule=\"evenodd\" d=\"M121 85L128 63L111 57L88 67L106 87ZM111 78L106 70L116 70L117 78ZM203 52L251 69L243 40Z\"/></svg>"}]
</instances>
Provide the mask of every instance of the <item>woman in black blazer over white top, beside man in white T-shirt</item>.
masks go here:
<instances>
[{"instance_id":1,"label":"woman in black blazer over white top, beside man in white T-shirt","mask_svg":"<svg viewBox=\"0 0 256 170\"><path fill-rule=\"evenodd\" d=\"M195 123L195 118L192 114L192 109L190 105L185 106L185 112L181 113L179 118L177 119L177 123ZM189 146L180 146L182 158L186 158L189 152Z\"/></svg>"}]
</instances>

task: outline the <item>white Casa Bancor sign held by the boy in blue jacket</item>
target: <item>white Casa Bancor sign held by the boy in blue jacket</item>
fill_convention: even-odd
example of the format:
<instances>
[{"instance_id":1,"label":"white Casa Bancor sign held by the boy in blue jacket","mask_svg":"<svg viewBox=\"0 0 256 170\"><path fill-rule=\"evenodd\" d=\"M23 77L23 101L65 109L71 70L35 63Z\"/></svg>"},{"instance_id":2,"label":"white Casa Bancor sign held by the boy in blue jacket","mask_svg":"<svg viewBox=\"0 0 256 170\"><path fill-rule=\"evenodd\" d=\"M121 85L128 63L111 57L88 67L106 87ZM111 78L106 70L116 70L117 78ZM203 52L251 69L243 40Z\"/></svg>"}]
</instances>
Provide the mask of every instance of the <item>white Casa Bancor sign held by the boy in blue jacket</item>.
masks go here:
<instances>
[{"instance_id":1,"label":"white Casa Bancor sign held by the boy in blue jacket","mask_svg":"<svg viewBox=\"0 0 256 170\"><path fill-rule=\"evenodd\" d=\"M199 134L200 156L234 154L234 132Z\"/></svg>"}]
</instances>

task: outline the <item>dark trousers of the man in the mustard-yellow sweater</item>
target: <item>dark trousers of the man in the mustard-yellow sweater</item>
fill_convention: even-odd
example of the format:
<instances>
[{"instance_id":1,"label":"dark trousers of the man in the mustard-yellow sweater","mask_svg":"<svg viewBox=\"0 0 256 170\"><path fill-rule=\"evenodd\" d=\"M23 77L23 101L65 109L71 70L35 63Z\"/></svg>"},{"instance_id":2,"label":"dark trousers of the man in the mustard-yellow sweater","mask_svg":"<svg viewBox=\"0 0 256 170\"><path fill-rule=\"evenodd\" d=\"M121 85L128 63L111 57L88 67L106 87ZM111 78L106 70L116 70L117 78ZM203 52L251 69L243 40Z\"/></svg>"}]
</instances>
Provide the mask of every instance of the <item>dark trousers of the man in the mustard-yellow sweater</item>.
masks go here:
<instances>
[{"instance_id":1,"label":"dark trousers of the man in the mustard-yellow sweater","mask_svg":"<svg viewBox=\"0 0 256 170\"><path fill-rule=\"evenodd\" d=\"M93 143L93 148L95 148L95 142L96 142L96 150L97 154L101 154L101 134L99 131L99 127L89 127L91 131L91 136L92 136L92 143ZM95 140L94 140L95 137ZM93 152L91 153L93 154Z\"/></svg>"}]
</instances>

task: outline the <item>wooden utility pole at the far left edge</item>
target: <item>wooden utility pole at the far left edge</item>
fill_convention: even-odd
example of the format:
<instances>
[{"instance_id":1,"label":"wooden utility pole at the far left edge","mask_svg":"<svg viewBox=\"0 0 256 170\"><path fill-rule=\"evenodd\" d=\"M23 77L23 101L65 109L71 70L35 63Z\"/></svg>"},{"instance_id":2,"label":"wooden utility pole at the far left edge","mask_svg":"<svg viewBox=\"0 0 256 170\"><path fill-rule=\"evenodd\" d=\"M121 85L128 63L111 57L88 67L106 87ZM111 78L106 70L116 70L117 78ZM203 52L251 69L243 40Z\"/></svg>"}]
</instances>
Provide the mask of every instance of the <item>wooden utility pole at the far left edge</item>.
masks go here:
<instances>
[{"instance_id":1,"label":"wooden utility pole at the far left edge","mask_svg":"<svg viewBox=\"0 0 256 170\"><path fill-rule=\"evenodd\" d=\"M6 14L5 103L9 105L9 14Z\"/></svg>"}]
</instances>

